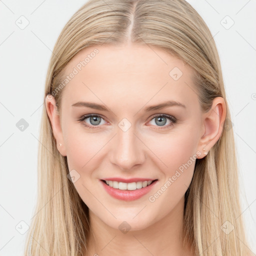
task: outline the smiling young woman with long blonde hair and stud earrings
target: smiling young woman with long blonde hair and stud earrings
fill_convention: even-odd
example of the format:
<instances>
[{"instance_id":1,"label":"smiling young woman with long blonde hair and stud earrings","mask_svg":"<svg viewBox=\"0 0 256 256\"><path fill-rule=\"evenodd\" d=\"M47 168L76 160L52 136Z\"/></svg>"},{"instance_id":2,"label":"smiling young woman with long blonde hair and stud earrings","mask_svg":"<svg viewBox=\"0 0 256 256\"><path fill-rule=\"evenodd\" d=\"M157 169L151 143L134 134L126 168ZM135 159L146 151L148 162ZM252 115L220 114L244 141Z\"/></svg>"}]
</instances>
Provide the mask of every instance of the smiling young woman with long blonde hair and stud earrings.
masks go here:
<instances>
[{"instance_id":1,"label":"smiling young woman with long blonde hair and stud earrings","mask_svg":"<svg viewBox=\"0 0 256 256\"><path fill-rule=\"evenodd\" d=\"M26 255L252 255L218 52L186 1L86 2L44 100Z\"/></svg>"}]
</instances>

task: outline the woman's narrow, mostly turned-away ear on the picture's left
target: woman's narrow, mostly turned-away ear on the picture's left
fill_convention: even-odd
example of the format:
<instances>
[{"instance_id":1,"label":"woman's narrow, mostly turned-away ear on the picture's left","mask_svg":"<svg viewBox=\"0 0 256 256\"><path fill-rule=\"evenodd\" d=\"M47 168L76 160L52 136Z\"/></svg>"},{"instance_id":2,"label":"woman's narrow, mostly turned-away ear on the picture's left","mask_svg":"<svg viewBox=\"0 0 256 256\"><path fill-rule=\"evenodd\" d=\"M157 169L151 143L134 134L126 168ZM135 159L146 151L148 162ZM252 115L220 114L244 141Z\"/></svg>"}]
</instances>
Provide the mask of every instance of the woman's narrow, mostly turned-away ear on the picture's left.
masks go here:
<instances>
[{"instance_id":1,"label":"woman's narrow, mostly turned-away ear on the picture's left","mask_svg":"<svg viewBox=\"0 0 256 256\"><path fill-rule=\"evenodd\" d=\"M47 94L45 97L45 107L50 119L53 136L56 139L57 149L63 156L66 156L65 144L60 123L60 115L55 103L55 98L50 94ZM61 145L59 145L59 143L61 143Z\"/></svg>"}]
</instances>

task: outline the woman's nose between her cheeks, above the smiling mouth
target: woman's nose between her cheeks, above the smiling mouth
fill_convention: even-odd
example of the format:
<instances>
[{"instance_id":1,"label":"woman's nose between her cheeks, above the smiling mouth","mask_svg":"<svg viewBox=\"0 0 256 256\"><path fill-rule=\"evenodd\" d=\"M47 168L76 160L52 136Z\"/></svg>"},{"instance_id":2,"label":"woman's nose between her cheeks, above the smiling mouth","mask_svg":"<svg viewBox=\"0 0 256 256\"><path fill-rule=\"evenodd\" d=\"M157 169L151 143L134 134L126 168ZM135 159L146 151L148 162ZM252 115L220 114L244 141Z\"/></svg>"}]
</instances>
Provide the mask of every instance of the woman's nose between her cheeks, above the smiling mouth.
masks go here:
<instances>
[{"instance_id":1,"label":"woman's nose between her cheeks, above the smiling mouth","mask_svg":"<svg viewBox=\"0 0 256 256\"><path fill-rule=\"evenodd\" d=\"M117 129L110 149L110 161L122 170L130 170L142 164L146 158L145 145L131 126L128 130Z\"/></svg>"}]
</instances>

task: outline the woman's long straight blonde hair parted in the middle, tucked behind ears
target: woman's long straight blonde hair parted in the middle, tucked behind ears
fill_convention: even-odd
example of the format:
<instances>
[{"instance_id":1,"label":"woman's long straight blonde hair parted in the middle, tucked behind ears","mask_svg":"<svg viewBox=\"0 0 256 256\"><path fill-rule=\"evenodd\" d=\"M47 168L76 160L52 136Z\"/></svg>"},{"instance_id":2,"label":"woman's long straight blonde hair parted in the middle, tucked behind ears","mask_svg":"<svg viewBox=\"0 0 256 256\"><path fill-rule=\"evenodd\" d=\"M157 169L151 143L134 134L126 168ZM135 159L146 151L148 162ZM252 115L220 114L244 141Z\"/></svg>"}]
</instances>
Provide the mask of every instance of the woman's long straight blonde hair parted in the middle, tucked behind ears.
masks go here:
<instances>
[{"instance_id":1,"label":"woman's long straight blonde hair parted in the middle, tucked behind ears","mask_svg":"<svg viewBox=\"0 0 256 256\"><path fill-rule=\"evenodd\" d=\"M131 30L132 25L132 30ZM194 87L202 111L223 97L226 119L220 138L201 159L185 193L184 237L196 255L249 255L239 203L233 129L218 52L196 10L185 0L89 0L62 29L51 55L44 98L57 91L63 69L88 46L131 42L157 46L194 69ZM63 89L53 96L60 109ZM27 234L26 255L82 256L87 252L88 207L69 173L66 156L56 147L45 104L38 148L38 198ZM230 233L223 224L233 225ZM225 226L226 227L226 226Z\"/></svg>"}]
</instances>

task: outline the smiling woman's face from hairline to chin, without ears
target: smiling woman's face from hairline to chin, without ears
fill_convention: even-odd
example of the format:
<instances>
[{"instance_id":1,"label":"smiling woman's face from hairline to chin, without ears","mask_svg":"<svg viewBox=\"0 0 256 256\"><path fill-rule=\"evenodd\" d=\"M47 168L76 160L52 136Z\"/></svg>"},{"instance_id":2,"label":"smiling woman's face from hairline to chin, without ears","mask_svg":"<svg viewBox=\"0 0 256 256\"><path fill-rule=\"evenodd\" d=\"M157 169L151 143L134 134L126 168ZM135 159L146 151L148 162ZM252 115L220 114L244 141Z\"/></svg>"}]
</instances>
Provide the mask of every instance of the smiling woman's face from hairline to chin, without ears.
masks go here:
<instances>
[{"instance_id":1,"label":"smiling woman's face from hairline to chin, without ears","mask_svg":"<svg viewBox=\"0 0 256 256\"><path fill-rule=\"evenodd\" d=\"M81 50L64 70L55 137L90 213L113 228L126 221L136 230L174 211L203 148L192 69L157 47L107 45ZM102 180L114 178L157 180L150 188L105 189Z\"/></svg>"}]
</instances>

